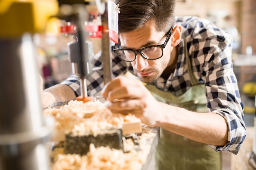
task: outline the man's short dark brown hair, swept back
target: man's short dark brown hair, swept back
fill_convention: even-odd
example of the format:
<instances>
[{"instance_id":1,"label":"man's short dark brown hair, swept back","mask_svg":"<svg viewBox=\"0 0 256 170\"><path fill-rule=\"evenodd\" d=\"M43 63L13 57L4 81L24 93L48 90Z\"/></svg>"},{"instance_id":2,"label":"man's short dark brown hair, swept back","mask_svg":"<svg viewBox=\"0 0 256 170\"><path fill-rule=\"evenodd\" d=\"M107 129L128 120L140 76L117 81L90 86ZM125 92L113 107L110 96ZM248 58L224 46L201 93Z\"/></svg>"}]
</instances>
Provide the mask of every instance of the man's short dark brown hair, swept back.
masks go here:
<instances>
[{"instance_id":1,"label":"man's short dark brown hair, swept back","mask_svg":"<svg viewBox=\"0 0 256 170\"><path fill-rule=\"evenodd\" d=\"M175 0L116 0L119 4L119 33L141 28L155 21L157 31L167 32L175 23Z\"/></svg>"}]
</instances>

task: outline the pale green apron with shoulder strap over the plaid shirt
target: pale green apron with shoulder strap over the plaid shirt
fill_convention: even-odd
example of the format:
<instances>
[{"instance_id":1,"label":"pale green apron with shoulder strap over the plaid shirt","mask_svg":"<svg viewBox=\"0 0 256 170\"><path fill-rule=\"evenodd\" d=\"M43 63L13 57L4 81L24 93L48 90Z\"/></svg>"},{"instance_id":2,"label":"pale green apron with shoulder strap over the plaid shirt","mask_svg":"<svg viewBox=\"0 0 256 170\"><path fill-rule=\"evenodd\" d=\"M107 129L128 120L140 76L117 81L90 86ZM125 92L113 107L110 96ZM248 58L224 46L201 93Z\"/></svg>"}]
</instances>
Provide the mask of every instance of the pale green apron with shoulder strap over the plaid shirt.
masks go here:
<instances>
[{"instance_id":1,"label":"pale green apron with shoulder strap over the plaid shirt","mask_svg":"<svg viewBox=\"0 0 256 170\"><path fill-rule=\"evenodd\" d=\"M199 113L208 113L205 85L198 84L193 74L186 44L185 57L192 87L175 96L154 85L146 85L159 102L179 106ZM213 148L160 128L160 139L155 151L156 170L221 170L221 153Z\"/></svg>"}]
</instances>

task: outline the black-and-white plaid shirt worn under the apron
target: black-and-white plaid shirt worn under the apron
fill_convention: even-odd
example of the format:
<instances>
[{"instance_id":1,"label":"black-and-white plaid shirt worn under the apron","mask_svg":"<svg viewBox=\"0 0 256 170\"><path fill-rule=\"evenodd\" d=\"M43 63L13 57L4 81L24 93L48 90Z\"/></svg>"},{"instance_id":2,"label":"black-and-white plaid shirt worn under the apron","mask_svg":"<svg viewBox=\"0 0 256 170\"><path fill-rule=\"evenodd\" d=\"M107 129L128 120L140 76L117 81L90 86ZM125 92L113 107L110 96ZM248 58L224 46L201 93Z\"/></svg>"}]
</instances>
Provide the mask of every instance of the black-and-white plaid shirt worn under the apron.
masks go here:
<instances>
[{"instance_id":1,"label":"black-and-white plaid shirt worn under the apron","mask_svg":"<svg viewBox=\"0 0 256 170\"><path fill-rule=\"evenodd\" d=\"M186 39L187 50L191 60L195 78L206 87L207 107L212 113L224 117L228 126L228 143L225 146L211 146L216 151L229 150L237 154L246 135L243 117L243 102L240 99L237 80L231 61L231 37L218 29L208 20L197 17L177 17L176 24L182 25L182 33ZM113 46L111 46L111 50ZM171 91L174 95L182 95L190 87L188 68L184 55L184 39L177 46L178 61L175 71L167 80L159 77L155 82L163 91ZM93 95L104 86L101 52L92 60L92 74L88 76L88 95ZM133 73L129 62L121 61L112 52L113 77ZM76 96L80 95L79 78L70 76L62 82L70 86Z\"/></svg>"}]
</instances>

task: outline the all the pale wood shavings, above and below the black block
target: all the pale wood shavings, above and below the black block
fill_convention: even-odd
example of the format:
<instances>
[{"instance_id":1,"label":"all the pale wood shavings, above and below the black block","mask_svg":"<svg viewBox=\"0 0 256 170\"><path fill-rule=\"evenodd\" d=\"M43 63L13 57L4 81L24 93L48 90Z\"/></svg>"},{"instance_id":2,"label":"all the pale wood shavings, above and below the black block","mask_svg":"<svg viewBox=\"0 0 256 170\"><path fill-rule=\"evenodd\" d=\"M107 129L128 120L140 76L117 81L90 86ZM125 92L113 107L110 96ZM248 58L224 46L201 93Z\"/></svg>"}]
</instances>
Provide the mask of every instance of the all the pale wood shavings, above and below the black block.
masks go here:
<instances>
[{"instance_id":1,"label":"all the pale wood shavings, above and below the black block","mask_svg":"<svg viewBox=\"0 0 256 170\"><path fill-rule=\"evenodd\" d=\"M86 117L86 114L92 114ZM134 115L111 113L101 102L71 101L61 108L48 108L44 110L44 116L53 116L56 120L55 135L72 132L74 135L82 135L85 132L97 134L107 128L120 128L126 122L141 122ZM124 140L124 150L111 149L109 147L95 148L90 145L90 151L86 155L64 154L64 148L55 148L51 152L51 170L141 170L148 157L155 132L151 132L146 126L142 128L146 132L139 136L140 150L134 150L132 139ZM145 139L144 139L145 138ZM64 140L65 137L58 137Z\"/></svg>"}]
</instances>

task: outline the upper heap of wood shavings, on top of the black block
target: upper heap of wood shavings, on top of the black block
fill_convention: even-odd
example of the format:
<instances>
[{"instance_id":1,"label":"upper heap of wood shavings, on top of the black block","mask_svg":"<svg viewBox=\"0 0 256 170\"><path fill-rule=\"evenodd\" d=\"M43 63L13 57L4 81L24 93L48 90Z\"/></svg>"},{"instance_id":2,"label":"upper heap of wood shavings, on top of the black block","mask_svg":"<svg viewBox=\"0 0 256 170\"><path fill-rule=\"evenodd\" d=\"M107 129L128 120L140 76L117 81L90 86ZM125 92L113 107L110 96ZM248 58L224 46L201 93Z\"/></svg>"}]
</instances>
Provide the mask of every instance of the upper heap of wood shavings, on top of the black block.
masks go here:
<instances>
[{"instance_id":1,"label":"upper heap of wood shavings, on top of the black block","mask_svg":"<svg viewBox=\"0 0 256 170\"><path fill-rule=\"evenodd\" d=\"M86 117L87 114L90 114L90 117ZM99 101L70 101L61 108L45 109L43 115L53 116L56 120L53 139L55 141L64 140L64 133L97 135L100 130L122 128L127 122L141 122L132 114L112 113Z\"/></svg>"}]
</instances>

